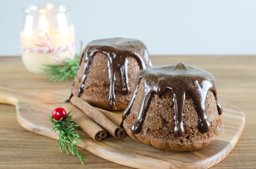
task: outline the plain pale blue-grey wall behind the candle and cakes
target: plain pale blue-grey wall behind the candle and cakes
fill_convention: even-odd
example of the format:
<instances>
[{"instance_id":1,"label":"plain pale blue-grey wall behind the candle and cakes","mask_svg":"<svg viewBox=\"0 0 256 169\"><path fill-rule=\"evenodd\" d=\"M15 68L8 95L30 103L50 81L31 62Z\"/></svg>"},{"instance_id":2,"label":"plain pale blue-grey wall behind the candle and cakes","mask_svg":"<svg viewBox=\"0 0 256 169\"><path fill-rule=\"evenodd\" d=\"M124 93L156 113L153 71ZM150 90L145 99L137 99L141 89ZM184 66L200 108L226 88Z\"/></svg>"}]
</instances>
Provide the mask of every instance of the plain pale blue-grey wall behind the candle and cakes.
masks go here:
<instances>
[{"instance_id":1,"label":"plain pale blue-grey wall behind the candle and cakes","mask_svg":"<svg viewBox=\"0 0 256 169\"><path fill-rule=\"evenodd\" d=\"M47 2L72 5L84 44L126 37L150 54L256 54L255 0L1 0L0 56L20 55L21 8Z\"/></svg>"}]
</instances>

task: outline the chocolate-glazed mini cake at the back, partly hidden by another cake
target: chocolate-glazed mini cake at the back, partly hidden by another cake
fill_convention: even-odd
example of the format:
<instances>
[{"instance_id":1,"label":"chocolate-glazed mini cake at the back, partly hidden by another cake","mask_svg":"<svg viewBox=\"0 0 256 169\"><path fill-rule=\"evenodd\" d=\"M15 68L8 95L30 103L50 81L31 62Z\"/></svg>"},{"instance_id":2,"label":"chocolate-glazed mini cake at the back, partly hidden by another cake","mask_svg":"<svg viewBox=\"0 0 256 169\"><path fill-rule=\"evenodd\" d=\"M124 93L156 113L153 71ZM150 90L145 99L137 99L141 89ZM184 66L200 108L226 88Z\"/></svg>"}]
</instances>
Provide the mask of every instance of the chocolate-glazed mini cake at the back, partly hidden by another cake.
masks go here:
<instances>
[{"instance_id":1,"label":"chocolate-glazed mini cake at the back, partly hidden by another cake","mask_svg":"<svg viewBox=\"0 0 256 169\"><path fill-rule=\"evenodd\" d=\"M151 66L148 51L139 40L94 40L81 54L72 95L102 109L124 110L137 73Z\"/></svg>"}]
</instances>

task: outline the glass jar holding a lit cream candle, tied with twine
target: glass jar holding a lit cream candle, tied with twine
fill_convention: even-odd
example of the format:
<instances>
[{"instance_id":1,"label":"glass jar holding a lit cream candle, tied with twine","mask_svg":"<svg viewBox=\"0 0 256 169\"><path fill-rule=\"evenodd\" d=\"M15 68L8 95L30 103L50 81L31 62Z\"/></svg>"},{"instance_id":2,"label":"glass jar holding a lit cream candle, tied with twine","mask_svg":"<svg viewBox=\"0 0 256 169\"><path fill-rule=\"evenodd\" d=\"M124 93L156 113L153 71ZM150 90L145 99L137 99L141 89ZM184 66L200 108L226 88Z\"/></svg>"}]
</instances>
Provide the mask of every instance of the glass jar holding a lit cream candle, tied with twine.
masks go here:
<instances>
[{"instance_id":1,"label":"glass jar holding a lit cream candle, tied with twine","mask_svg":"<svg viewBox=\"0 0 256 169\"><path fill-rule=\"evenodd\" d=\"M43 64L59 64L75 54L70 6L42 4L25 7L20 48L27 70L43 73Z\"/></svg>"}]
</instances>

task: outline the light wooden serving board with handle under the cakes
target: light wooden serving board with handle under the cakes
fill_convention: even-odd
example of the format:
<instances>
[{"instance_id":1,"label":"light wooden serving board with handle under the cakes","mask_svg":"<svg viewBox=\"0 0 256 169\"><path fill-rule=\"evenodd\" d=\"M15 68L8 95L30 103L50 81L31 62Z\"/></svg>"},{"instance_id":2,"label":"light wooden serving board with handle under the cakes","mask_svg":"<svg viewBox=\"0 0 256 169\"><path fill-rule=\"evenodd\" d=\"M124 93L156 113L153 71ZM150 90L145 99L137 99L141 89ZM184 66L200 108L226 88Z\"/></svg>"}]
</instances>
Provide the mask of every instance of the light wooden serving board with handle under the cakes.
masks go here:
<instances>
[{"instance_id":1,"label":"light wooden serving board with handle under the cakes","mask_svg":"<svg viewBox=\"0 0 256 169\"><path fill-rule=\"evenodd\" d=\"M0 103L16 106L18 122L22 127L54 139L58 139L58 134L52 131L53 125L49 122L49 116L65 99L66 96L61 94L58 94L58 97L53 93L37 96L0 87ZM101 142L96 142L76 128L76 132L82 137L82 142L78 146L106 160L139 169L209 168L230 153L245 127L245 115L238 107L227 102L221 104L225 133L221 133L213 143L199 150L164 151L136 142L128 136L123 140L108 136Z\"/></svg>"}]
</instances>

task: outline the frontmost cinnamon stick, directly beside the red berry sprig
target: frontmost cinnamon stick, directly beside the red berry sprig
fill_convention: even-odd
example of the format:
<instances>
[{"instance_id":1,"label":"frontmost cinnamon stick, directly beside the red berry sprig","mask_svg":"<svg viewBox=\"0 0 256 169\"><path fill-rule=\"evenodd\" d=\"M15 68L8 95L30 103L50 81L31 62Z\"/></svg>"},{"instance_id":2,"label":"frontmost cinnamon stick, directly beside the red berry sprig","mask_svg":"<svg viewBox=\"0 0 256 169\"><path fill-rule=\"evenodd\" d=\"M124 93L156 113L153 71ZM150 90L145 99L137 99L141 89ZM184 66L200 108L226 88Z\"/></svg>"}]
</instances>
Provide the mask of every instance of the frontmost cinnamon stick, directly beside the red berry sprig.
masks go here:
<instances>
[{"instance_id":1,"label":"frontmost cinnamon stick, directly beside the red berry sprig","mask_svg":"<svg viewBox=\"0 0 256 169\"><path fill-rule=\"evenodd\" d=\"M102 138L107 136L105 130L103 130L99 125L97 125L92 119L90 119L83 111L78 109L76 106L69 102L62 104L65 110L72 111L72 119L79 125L79 127L92 137L95 141L100 141Z\"/></svg>"}]
</instances>

